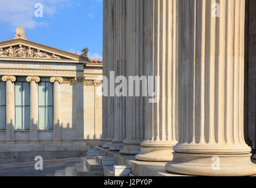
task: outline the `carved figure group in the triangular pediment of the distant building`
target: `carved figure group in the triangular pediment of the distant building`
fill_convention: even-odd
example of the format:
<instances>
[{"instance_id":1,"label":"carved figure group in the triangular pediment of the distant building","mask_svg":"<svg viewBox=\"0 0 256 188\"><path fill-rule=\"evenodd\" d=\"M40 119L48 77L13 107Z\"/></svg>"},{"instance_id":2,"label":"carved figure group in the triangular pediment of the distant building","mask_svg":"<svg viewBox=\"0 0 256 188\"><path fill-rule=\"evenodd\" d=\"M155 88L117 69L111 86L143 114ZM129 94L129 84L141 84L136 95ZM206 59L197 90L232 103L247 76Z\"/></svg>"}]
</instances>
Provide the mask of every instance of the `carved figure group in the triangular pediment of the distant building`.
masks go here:
<instances>
[{"instance_id":1,"label":"carved figure group in the triangular pediment of the distant building","mask_svg":"<svg viewBox=\"0 0 256 188\"><path fill-rule=\"evenodd\" d=\"M38 59L61 59L54 53L41 52L40 49L34 49L30 46L9 46L0 48L0 58L38 58Z\"/></svg>"}]
</instances>

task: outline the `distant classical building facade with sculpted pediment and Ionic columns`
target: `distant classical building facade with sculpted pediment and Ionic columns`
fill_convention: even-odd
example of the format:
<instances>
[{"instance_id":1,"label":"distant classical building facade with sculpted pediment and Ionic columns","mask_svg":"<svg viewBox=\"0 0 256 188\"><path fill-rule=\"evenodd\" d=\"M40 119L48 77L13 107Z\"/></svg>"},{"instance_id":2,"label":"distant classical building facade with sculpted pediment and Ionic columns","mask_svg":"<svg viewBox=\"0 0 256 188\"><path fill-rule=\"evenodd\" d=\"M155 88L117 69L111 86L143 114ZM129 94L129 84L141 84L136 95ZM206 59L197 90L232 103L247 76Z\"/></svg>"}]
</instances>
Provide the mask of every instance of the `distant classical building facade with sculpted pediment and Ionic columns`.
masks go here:
<instances>
[{"instance_id":1,"label":"distant classical building facade with sculpted pediment and Ionic columns","mask_svg":"<svg viewBox=\"0 0 256 188\"><path fill-rule=\"evenodd\" d=\"M101 137L102 61L28 41L0 42L0 163L85 155Z\"/></svg>"}]
</instances>

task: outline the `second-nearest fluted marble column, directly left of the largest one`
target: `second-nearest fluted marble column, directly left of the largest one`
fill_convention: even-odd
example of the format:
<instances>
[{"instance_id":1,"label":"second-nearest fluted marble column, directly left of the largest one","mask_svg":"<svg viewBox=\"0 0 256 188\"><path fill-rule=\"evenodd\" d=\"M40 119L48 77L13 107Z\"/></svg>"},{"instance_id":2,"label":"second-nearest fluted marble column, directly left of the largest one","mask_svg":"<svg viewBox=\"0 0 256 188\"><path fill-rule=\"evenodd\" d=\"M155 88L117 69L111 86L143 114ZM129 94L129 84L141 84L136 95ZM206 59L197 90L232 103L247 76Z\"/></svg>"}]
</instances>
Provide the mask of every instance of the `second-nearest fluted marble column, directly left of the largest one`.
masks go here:
<instances>
[{"instance_id":1,"label":"second-nearest fluted marble column, directly left of the largest one","mask_svg":"<svg viewBox=\"0 0 256 188\"><path fill-rule=\"evenodd\" d=\"M159 76L158 86L148 80L159 100L147 97L145 140L136 159L169 162L178 142L178 0L147 0L145 10L146 75Z\"/></svg>"}]
</instances>

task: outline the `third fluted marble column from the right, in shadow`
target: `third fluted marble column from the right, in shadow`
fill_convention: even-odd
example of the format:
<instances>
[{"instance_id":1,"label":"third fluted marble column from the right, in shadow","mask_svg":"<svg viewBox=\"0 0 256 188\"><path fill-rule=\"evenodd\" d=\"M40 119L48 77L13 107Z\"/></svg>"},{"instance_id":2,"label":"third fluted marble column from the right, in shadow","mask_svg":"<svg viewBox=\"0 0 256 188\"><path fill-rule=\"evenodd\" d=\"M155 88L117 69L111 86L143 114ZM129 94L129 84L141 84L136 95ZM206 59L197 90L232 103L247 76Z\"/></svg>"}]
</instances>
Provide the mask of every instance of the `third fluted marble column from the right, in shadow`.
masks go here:
<instances>
[{"instance_id":1,"label":"third fluted marble column from the right, in shadow","mask_svg":"<svg viewBox=\"0 0 256 188\"><path fill-rule=\"evenodd\" d=\"M145 98L142 96L142 85L136 86L134 79L129 76L144 75L144 28L143 28L143 3L144 1L127 1L127 21L126 21L126 53L127 69L126 78L129 79L129 85L133 82L133 87L128 89L126 99L126 139L123 141L123 149L120 150L124 155L136 155L140 152L140 143L144 139L145 120L143 116L143 107ZM133 89L133 91L131 90ZM136 95L136 90L140 95Z\"/></svg>"}]
</instances>

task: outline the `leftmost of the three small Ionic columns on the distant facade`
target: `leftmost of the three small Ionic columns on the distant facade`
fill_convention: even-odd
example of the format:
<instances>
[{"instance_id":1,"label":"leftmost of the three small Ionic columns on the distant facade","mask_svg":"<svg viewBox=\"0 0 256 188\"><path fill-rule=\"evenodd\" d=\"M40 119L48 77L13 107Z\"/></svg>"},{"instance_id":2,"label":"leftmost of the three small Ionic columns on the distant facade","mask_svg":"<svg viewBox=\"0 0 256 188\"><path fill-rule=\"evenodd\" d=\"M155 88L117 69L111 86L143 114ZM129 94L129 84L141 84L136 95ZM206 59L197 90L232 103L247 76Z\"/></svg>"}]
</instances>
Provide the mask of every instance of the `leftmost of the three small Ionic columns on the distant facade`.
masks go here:
<instances>
[{"instance_id":1,"label":"leftmost of the three small Ionic columns on the distant facade","mask_svg":"<svg viewBox=\"0 0 256 188\"><path fill-rule=\"evenodd\" d=\"M15 129L15 76L2 76L6 82L6 141L14 141Z\"/></svg>"}]
</instances>

